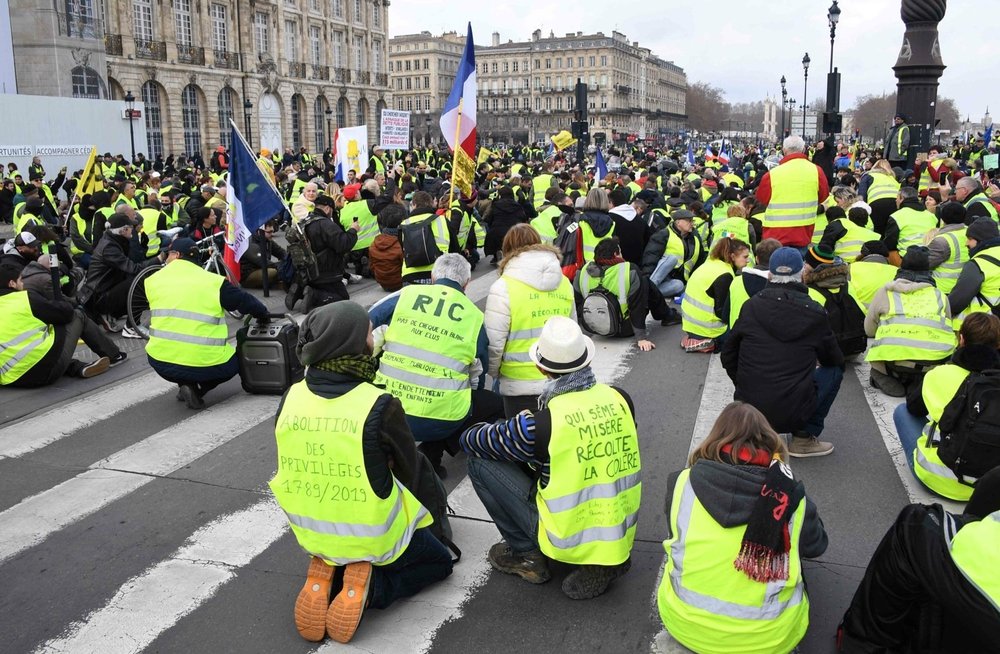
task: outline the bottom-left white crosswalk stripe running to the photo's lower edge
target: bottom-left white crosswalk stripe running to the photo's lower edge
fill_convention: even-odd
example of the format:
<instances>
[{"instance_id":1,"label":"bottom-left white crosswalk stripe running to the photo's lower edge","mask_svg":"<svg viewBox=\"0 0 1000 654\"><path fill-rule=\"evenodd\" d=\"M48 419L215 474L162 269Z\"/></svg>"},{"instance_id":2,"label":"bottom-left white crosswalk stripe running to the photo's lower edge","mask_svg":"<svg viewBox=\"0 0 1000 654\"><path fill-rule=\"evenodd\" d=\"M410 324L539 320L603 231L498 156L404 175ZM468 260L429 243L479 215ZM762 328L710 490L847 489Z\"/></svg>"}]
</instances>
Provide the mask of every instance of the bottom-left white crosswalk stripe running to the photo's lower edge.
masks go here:
<instances>
[{"instance_id":1,"label":"bottom-left white crosswalk stripe running to the photo's lower edge","mask_svg":"<svg viewBox=\"0 0 1000 654\"><path fill-rule=\"evenodd\" d=\"M102 608L36 652L143 650L278 540L286 525L272 499L213 520L170 557L129 579Z\"/></svg>"}]
</instances>

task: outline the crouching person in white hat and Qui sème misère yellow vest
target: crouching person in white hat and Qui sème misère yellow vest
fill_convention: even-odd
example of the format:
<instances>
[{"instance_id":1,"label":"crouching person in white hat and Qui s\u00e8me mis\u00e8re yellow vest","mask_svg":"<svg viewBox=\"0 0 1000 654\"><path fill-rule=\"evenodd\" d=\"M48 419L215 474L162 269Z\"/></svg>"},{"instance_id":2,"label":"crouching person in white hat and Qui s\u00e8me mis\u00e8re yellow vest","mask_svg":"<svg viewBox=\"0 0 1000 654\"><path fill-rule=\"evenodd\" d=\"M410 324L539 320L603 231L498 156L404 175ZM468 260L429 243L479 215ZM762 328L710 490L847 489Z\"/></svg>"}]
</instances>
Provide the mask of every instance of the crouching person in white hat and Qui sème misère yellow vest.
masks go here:
<instances>
[{"instance_id":1,"label":"crouching person in white hat and Qui s\u00e8me mis\u00e8re yellow vest","mask_svg":"<svg viewBox=\"0 0 1000 654\"><path fill-rule=\"evenodd\" d=\"M460 439L472 485L503 536L490 565L541 584L551 578L548 559L569 563L563 592L590 599L631 565L642 493L635 409L624 391L597 383L594 342L576 321L550 318L529 356L548 378L541 408L475 425Z\"/></svg>"}]
</instances>

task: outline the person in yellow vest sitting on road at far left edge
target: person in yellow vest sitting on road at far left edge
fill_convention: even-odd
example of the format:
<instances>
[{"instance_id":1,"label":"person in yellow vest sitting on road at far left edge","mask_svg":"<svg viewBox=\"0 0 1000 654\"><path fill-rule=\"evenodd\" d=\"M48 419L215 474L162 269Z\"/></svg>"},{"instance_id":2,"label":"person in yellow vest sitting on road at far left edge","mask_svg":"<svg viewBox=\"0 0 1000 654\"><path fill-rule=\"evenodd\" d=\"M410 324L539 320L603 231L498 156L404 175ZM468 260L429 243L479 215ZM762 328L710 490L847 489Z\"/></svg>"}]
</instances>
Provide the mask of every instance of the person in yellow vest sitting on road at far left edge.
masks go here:
<instances>
[{"instance_id":1,"label":"person in yellow vest sitting on road at far left edge","mask_svg":"<svg viewBox=\"0 0 1000 654\"><path fill-rule=\"evenodd\" d=\"M61 295L54 301L24 290L17 266L0 264L0 385L35 388L64 374L89 378L125 360L125 353ZM99 357L91 363L73 358L83 338Z\"/></svg>"}]
</instances>

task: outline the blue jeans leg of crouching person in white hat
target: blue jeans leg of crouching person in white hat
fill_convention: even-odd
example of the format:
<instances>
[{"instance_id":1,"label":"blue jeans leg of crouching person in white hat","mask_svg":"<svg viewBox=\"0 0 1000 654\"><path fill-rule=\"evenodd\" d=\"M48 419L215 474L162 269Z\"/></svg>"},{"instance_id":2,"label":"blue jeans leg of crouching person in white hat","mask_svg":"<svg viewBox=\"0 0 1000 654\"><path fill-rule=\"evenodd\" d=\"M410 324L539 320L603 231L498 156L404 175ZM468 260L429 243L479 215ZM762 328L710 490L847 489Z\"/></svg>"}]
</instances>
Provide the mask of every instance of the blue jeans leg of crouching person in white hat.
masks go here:
<instances>
[{"instance_id":1,"label":"blue jeans leg of crouching person in white hat","mask_svg":"<svg viewBox=\"0 0 1000 654\"><path fill-rule=\"evenodd\" d=\"M516 463L469 457L469 479L515 554L538 551L535 481Z\"/></svg>"}]
</instances>

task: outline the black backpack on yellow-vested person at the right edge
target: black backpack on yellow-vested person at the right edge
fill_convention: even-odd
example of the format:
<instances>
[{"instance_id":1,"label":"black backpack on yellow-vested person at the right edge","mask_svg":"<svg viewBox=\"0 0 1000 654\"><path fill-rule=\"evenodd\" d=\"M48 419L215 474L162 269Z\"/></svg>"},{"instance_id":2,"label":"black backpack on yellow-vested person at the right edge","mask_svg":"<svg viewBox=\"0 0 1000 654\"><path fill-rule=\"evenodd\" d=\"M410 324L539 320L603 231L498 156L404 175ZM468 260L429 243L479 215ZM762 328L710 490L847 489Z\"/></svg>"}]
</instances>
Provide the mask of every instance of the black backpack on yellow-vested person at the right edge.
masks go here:
<instances>
[{"instance_id":1,"label":"black backpack on yellow-vested person at the right edge","mask_svg":"<svg viewBox=\"0 0 1000 654\"><path fill-rule=\"evenodd\" d=\"M941 414L938 456L962 483L1000 466L1000 370L970 374Z\"/></svg>"}]
</instances>

